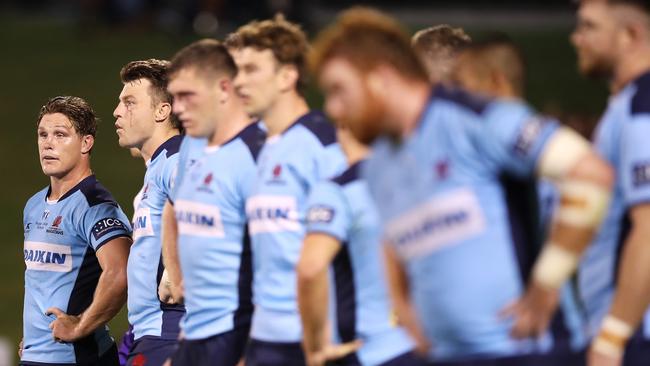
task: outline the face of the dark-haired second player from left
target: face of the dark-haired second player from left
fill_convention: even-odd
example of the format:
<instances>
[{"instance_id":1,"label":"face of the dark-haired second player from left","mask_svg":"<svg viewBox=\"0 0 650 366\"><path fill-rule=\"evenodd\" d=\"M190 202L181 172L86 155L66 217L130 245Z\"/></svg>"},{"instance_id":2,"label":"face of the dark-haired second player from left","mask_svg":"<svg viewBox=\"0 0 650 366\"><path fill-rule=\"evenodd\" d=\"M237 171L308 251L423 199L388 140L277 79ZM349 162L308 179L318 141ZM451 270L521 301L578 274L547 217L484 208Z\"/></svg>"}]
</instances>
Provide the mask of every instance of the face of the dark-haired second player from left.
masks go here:
<instances>
[{"instance_id":1,"label":"face of the dark-haired second player from left","mask_svg":"<svg viewBox=\"0 0 650 366\"><path fill-rule=\"evenodd\" d=\"M121 147L138 148L151 138L155 128L155 105L151 82L138 79L124 84L119 103L113 111L118 143Z\"/></svg>"}]
</instances>

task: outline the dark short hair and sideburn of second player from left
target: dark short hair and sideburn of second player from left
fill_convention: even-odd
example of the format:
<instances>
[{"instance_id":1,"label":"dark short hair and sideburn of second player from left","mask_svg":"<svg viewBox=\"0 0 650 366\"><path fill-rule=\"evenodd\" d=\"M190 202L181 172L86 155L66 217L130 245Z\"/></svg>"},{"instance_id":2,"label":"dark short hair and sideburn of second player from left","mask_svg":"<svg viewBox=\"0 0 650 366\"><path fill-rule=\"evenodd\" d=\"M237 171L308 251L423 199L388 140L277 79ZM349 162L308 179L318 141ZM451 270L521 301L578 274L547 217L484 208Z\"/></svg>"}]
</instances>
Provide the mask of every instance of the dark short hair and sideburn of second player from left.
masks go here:
<instances>
[{"instance_id":1,"label":"dark short hair and sideburn of second player from left","mask_svg":"<svg viewBox=\"0 0 650 366\"><path fill-rule=\"evenodd\" d=\"M167 91L167 84L169 84L167 70L169 69L169 65L170 62L167 60L156 60L153 58L131 61L120 70L120 79L125 84L140 79L149 80L151 83L149 93L154 105L161 102L172 104L172 95ZM182 128L176 115L172 113L169 118L174 128L179 130Z\"/></svg>"}]
</instances>

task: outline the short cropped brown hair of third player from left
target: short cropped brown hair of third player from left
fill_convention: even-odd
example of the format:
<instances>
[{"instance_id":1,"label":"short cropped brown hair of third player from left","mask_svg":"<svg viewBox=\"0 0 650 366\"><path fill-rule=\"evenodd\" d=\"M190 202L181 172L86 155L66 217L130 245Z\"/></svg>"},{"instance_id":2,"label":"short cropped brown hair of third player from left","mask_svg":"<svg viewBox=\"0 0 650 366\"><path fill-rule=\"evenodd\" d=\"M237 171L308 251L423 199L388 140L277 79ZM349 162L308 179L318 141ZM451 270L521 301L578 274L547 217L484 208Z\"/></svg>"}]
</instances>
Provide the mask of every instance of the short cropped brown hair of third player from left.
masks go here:
<instances>
[{"instance_id":1,"label":"short cropped brown hair of third player from left","mask_svg":"<svg viewBox=\"0 0 650 366\"><path fill-rule=\"evenodd\" d=\"M198 72L237 76L237 65L223 43L215 39L196 41L176 52L167 71L171 77L182 69Z\"/></svg>"}]
</instances>

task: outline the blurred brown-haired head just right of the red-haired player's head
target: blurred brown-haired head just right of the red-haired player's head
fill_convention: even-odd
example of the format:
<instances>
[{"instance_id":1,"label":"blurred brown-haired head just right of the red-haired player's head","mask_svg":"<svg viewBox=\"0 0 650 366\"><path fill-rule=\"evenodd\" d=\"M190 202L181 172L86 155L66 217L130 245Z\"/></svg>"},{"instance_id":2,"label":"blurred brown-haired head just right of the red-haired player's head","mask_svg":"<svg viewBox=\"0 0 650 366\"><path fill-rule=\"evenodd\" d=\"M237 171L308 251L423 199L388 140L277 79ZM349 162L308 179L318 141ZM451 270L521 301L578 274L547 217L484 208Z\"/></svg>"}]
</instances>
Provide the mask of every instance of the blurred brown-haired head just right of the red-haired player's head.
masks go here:
<instances>
[{"instance_id":1,"label":"blurred brown-haired head just right of the red-haired player's head","mask_svg":"<svg viewBox=\"0 0 650 366\"><path fill-rule=\"evenodd\" d=\"M411 38L411 45L432 83L449 81L458 53L471 43L472 39L462 28L447 24L419 30Z\"/></svg>"}]
</instances>

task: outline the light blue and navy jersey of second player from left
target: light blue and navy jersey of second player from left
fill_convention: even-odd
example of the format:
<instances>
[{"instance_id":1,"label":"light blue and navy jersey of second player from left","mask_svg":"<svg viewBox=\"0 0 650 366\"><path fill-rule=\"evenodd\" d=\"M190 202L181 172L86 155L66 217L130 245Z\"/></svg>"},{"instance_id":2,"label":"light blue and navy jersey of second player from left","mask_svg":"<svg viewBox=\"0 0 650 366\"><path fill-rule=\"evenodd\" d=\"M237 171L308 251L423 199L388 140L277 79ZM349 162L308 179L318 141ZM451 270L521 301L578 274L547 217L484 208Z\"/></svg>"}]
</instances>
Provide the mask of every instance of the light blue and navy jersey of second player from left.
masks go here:
<instances>
[{"instance_id":1,"label":"light blue and navy jersey of second player from left","mask_svg":"<svg viewBox=\"0 0 650 366\"><path fill-rule=\"evenodd\" d=\"M178 339L179 321L184 314L182 305L165 304L158 297L164 270L162 210L171 193L182 141L182 136L174 136L156 149L147 162L144 186L136 202L127 267L129 323L136 340L144 336Z\"/></svg>"}]
</instances>

